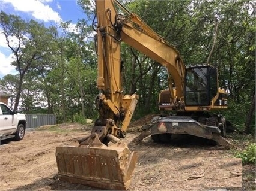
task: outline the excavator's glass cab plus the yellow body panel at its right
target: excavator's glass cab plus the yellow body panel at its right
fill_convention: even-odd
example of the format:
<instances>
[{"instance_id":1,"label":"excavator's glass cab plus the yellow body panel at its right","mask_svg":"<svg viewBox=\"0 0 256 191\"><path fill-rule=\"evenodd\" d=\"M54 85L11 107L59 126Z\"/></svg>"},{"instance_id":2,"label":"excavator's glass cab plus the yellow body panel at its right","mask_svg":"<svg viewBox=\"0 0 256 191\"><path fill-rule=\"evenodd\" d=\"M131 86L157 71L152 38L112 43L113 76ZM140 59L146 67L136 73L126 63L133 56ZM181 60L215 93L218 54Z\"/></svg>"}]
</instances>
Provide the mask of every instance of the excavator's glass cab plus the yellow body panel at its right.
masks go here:
<instances>
[{"instance_id":1,"label":"excavator's glass cab plus the yellow body panel at its right","mask_svg":"<svg viewBox=\"0 0 256 191\"><path fill-rule=\"evenodd\" d=\"M186 68L185 105L206 110L227 108L227 92L219 89L217 68L211 65Z\"/></svg>"}]
</instances>

